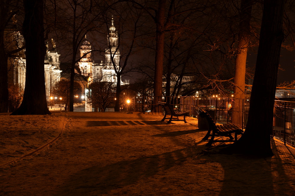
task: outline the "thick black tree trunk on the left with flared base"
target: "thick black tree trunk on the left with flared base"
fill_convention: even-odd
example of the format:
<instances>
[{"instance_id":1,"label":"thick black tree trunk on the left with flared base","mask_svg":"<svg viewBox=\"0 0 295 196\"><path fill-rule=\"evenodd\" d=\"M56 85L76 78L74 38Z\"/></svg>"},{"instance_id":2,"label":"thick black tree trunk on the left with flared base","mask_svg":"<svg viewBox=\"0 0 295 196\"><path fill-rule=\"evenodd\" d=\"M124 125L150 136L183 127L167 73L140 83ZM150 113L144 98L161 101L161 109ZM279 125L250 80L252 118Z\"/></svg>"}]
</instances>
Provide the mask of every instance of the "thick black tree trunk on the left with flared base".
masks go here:
<instances>
[{"instance_id":1,"label":"thick black tree trunk on the left with flared base","mask_svg":"<svg viewBox=\"0 0 295 196\"><path fill-rule=\"evenodd\" d=\"M45 92L43 0L24 0L23 35L26 42L26 83L24 98L12 115L51 114Z\"/></svg>"}]
</instances>

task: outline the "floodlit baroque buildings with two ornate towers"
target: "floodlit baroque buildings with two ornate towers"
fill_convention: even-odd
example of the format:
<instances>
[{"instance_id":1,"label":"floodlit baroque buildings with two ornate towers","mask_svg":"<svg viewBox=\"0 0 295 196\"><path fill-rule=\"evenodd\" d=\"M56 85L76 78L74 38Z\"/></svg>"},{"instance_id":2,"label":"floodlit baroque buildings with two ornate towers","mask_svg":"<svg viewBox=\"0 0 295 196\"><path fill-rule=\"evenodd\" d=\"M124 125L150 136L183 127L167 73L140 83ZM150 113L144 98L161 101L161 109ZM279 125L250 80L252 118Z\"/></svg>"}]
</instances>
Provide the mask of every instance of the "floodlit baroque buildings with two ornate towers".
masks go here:
<instances>
[{"instance_id":1,"label":"floodlit baroque buildings with two ornate towers","mask_svg":"<svg viewBox=\"0 0 295 196\"><path fill-rule=\"evenodd\" d=\"M94 63L91 58L91 43L88 39L84 38L80 46L81 60L77 63L76 73L81 73L87 77L87 80L92 81L105 81L117 83L116 69L119 70L120 51L118 49L118 33L114 26L112 19L112 26L109 28L110 33L108 36L108 48L105 51L105 62ZM114 63L112 63L112 59ZM129 80L120 81L121 85L129 84Z\"/></svg>"}]
</instances>

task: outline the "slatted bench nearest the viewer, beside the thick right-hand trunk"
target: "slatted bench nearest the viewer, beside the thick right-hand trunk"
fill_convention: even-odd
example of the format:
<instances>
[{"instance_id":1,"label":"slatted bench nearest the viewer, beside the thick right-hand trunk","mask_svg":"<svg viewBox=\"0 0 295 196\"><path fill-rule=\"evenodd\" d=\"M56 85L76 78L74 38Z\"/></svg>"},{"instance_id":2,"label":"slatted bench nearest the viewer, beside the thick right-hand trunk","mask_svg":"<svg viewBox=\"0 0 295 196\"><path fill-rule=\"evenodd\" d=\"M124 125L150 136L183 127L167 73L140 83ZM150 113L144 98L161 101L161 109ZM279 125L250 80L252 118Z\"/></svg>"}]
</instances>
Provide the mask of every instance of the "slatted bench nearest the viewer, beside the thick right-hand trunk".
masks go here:
<instances>
[{"instance_id":1,"label":"slatted bench nearest the viewer, beside the thick right-hand trunk","mask_svg":"<svg viewBox=\"0 0 295 196\"><path fill-rule=\"evenodd\" d=\"M214 142L235 142L237 141L237 135L243 134L243 130L232 123L216 125L210 114L203 109L198 108L196 112L201 118L206 118L209 124L208 132L203 138L203 140L208 140L211 136L206 146L211 146ZM232 133L235 133L235 139L232 137ZM222 140L214 140L215 135L219 135L221 138L222 136L227 136L229 137L229 140L223 140L223 138Z\"/></svg>"}]
</instances>

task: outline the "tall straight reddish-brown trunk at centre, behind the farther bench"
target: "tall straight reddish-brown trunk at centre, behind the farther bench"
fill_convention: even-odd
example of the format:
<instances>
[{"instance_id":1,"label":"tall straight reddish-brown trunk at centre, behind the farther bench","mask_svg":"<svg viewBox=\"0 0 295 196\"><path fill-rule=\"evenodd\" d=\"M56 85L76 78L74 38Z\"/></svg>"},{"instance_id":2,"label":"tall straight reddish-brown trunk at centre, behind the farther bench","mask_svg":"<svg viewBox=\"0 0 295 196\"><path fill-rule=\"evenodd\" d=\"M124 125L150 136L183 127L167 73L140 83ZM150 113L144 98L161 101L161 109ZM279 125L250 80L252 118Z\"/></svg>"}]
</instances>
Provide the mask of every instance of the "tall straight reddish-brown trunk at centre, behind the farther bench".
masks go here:
<instances>
[{"instance_id":1,"label":"tall straight reddish-brown trunk at centre, behind the farther bench","mask_svg":"<svg viewBox=\"0 0 295 196\"><path fill-rule=\"evenodd\" d=\"M166 0L159 0L159 6L156 14L156 56L155 56L155 81L154 81L154 103L162 101L162 83L163 83L163 59L164 59L164 24L165 24L165 4ZM155 112L160 108L155 107Z\"/></svg>"}]
</instances>

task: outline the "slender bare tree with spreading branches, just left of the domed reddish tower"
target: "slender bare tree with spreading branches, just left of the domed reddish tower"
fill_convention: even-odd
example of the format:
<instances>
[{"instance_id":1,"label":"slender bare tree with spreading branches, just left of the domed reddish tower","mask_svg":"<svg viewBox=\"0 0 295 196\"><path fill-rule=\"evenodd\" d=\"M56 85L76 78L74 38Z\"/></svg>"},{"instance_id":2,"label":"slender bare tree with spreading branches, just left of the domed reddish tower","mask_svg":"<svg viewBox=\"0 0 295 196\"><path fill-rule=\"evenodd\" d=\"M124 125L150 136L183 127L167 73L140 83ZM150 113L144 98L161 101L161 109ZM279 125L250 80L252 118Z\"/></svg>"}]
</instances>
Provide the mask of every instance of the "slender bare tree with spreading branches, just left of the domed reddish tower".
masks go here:
<instances>
[{"instance_id":1,"label":"slender bare tree with spreading branches, just left of the domed reddish tower","mask_svg":"<svg viewBox=\"0 0 295 196\"><path fill-rule=\"evenodd\" d=\"M96 4L97 3L97 4ZM76 63L89 53L79 57L79 48L85 39L85 35L99 28L103 23L100 22L99 17L108 9L103 2L96 2L92 0L64 0L54 1L55 8L55 38L63 50L68 53L64 54L71 62L71 87L70 87L70 103L69 111L73 111L74 104L74 80L75 80L75 66ZM93 50L91 52L94 52Z\"/></svg>"}]
</instances>

